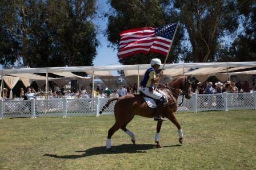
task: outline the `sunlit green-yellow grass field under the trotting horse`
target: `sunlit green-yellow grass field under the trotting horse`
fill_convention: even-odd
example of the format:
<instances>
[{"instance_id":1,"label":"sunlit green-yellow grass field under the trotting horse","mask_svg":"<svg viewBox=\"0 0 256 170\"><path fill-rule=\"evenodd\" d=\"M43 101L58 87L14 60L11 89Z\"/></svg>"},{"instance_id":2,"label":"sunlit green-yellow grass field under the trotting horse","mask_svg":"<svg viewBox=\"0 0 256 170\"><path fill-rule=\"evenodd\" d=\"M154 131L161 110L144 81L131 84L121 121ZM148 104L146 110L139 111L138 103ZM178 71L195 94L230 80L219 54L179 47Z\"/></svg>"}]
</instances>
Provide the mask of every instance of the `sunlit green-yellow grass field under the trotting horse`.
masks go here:
<instances>
[{"instance_id":1,"label":"sunlit green-yellow grass field under the trotting horse","mask_svg":"<svg viewBox=\"0 0 256 170\"><path fill-rule=\"evenodd\" d=\"M256 111L177 113L177 128L163 123L155 147L156 122L135 117L106 151L113 116L71 118L5 118L0 120L0 169L255 169Z\"/></svg>"}]
</instances>

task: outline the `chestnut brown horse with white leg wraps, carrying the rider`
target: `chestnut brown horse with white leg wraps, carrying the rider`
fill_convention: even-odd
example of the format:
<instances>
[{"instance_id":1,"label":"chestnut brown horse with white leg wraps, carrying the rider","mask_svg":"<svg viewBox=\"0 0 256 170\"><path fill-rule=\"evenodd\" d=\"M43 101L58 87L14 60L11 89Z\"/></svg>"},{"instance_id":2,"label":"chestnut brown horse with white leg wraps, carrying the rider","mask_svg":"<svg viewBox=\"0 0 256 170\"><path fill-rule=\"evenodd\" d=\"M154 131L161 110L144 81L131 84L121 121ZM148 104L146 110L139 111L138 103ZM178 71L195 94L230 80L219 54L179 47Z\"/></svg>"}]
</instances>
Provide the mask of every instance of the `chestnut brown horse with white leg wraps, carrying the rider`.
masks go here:
<instances>
[{"instance_id":1,"label":"chestnut brown horse with white leg wraps, carrying the rider","mask_svg":"<svg viewBox=\"0 0 256 170\"><path fill-rule=\"evenodd\" d=\"M190 76L179 76L175 77L172 81L163 85L161 90L167 94L168 102L162 109L162 117L169 119L178 128L179 143L183 144L183 133L181 125L179 125L175 118L174 112L178 109L178 96L179 92L182 92L182 97L191 98L191 82ZM114 106L115 123L109 129L107 134L106 148L111 148L111 136L121 128L131 137L131 142L135 144L135 135L133 132L127 130L126 126L134 118L135 115L142 117L153 118L155 116L155 108L147 106L147 103L143 99L143 94L127 94L119 98L111 98L107 101L106 105L103 106L100 114L111 102L117 100ZM183 101L183 98L182 98ZM155 134L155 143L157 146L161 146L159 142L159 132L161 130L163 121L157 122L157 132Z\"/></svg>"}]
</instances>

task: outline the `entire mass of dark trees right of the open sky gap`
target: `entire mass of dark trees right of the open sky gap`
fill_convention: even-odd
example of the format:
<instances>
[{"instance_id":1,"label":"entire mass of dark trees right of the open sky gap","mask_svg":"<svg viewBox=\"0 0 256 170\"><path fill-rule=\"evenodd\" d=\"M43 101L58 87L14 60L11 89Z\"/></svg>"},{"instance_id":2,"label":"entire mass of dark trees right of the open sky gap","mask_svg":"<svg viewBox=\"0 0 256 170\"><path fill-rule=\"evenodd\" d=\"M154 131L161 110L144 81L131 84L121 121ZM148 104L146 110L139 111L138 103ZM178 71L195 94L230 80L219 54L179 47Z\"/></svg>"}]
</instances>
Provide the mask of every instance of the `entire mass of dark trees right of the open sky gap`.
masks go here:
<instances>
[{"instance_id":1,"label":"entire mass of dark trees right of the open sky gap","mask_svg":"<svg viewBox=\"0 0 256 170\"><path fill-rule=\"evenodd\" d=\"M180 20L177 35L167 63L213 62L236 60L236 56L255 54L255 1L246 0L200 0L200 1L109 1L112 10L106 15L109 19L106 36L114 48L118 48L119 32L130 28L160 27ZM246 37L237 31L241 16L244 18ZM250 37L250 38L249 38ZM243 44L248 42L248 44ZM226 50L225 42L233 42ZM239 42L241 44L239 44ZM239 47L237 46L239 45ZM250 45L250 47L249 47ZM246 52L245 49L250 49ZM252 55L250 54L252 52ZM233 54L233 56L230 55ZM230 57L226 57L229 54ZM152 57L165 56L156 53L137 54L121 59L123 64L145 64ZM226 58L225 58L226 57ZM229 58L229 59L228 59ZM245 58L243 58L245 59Z\"/></svg>"}]
</instances>

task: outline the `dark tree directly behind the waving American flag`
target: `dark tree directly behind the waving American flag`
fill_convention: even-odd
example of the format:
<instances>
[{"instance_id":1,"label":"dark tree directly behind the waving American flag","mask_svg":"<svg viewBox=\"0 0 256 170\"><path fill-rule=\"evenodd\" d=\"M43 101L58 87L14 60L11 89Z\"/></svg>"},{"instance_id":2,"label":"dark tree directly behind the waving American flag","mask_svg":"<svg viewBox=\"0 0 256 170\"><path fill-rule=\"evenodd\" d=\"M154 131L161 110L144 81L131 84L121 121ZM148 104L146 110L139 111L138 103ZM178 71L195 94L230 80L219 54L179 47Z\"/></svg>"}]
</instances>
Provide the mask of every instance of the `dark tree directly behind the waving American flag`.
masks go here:
<instances>
[{"instance_id":1,"label":"dark tree directly behind the waving American flag","mask_svg":"<svg viewBox=\"0 0 256 170\"><path fill-rule=\"evenodd\" d=\"M113 48L119 47L119 33L131 28L140 27L161 27L165 24L178 22L177 11L170 8L169 0L159 1L109 1L112 10L106 14L109 23L107 24L106 36ZM179 28L169 54L167 63L177 63L179 53L182 52L181 40L183 29ZM165 56L158 53L147 55L137 54L131 57L120 59L122 64L149 64L150 60L158 57L162 61Z\"/></svg>"}]
</instances>

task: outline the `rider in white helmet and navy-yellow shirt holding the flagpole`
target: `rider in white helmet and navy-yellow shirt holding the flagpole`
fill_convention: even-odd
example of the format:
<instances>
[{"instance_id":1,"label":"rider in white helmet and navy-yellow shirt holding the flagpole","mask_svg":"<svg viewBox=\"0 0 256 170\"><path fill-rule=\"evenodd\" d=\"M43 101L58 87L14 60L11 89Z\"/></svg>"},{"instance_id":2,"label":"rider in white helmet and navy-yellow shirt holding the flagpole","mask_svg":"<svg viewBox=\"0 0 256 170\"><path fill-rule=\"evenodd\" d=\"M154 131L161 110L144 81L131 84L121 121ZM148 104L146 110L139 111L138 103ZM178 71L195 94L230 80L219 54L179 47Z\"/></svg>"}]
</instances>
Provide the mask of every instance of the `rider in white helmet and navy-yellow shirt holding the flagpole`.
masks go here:
<instances>
[{"instance_id":1,"label":"rider in white helmet and navy-yellow shirt holding the flagpole","mask_svg":"<svg viewBox=\"0 0 256 170\"><path fill-rule=\"evenodd\" d=\"M164 118L162 118L162 108L163 103L166 102L166 99L163 97L163 95L159 92L156 92L154 90L154 84L159 81L159 78L163 74L163 71L159 72L159 74L156 74L156 72L159 70L160 65L162 65L161 60L159 59L152 59L150 61L151 68L147 69L146 73L144 74L144 77L141 81L141 88L139 89L140 92L146 94L146 96L149 96L154 99L158 99L158 105L157 105L157 111L155 113L154 120L155 121L165 121Z\"/></svg>"}]
</instances>

